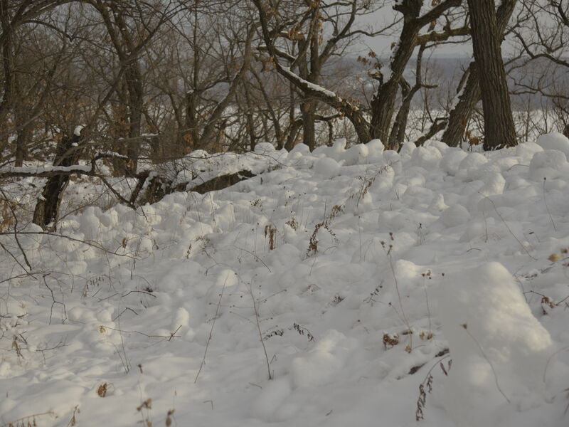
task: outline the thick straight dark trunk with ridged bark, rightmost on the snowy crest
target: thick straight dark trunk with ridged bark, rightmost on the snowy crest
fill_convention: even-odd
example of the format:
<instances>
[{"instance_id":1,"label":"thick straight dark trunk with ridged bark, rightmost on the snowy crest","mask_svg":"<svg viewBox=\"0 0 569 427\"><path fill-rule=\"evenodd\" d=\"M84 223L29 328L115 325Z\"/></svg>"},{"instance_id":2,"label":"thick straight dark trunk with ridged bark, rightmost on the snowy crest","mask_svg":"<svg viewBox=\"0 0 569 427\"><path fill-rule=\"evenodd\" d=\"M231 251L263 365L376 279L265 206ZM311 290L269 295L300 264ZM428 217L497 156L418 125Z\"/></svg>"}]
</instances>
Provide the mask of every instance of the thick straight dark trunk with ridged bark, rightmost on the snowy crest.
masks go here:
<instances>
[{"instance_id":1,"label":"thick straight dark trunk with ridged bark, rightmost on the snowy crest","mask_svg":"<svg viewBox=\"0 0 569 427\"><path fill-rule=\"evenodd\" d=\"M468 0L474 60L479 73L484 109L484 149L513 147L516 128L511 115L506 72L501 56L494 0Z\"/></svg>"}]
</instances>

